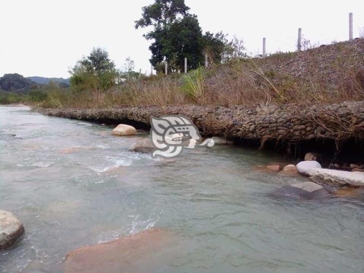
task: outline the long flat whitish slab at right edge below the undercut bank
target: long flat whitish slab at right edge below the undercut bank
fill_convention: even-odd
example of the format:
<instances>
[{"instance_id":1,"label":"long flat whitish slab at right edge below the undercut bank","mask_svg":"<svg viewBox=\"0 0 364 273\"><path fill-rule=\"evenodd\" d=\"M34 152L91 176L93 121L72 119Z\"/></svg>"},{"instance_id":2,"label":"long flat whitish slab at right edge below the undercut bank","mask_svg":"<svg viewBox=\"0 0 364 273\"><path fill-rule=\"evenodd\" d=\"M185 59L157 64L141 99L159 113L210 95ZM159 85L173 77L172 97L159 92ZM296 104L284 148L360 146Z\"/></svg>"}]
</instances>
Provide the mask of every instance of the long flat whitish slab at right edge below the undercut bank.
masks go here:
<instances>
[{"instance_id":1,"label":"long flat whitish slab at right edge below the undercut bank","mask_svg":"<svg viewBox=\"0 0 364 273\"><path fill-rule=\"evenodd\" d=\"M329 169L310 170L310 180L318 184L331 186L364 186L364 173Z\"/></svg>"}]
</instances>

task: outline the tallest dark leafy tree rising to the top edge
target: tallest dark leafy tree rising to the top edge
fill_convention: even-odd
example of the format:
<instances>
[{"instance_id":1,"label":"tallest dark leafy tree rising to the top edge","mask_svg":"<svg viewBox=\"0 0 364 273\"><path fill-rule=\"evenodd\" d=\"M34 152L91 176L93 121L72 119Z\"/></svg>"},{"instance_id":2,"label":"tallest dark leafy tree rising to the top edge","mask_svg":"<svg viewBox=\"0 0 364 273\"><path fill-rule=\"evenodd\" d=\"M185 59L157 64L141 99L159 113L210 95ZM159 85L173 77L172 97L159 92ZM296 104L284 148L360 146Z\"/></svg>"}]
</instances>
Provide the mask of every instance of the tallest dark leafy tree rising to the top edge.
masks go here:
<instances>
[{"instance_id":1,"label":"tallest dark leafy tree rising to the top edge","mask_svg":"<svg viewBox=\"0 0 364 273\"><path fill-rule=\"evenodd\" d=\"M197 16L189 14L184 0L156 0L142 8L142 18L135 27L153 26L144 37L154 40L149 49L153 67L160 71L166 57L169 71L181 71L184 58L188 69L195 69L203 62L203 36Z\"/></svg>"}]
</instances>

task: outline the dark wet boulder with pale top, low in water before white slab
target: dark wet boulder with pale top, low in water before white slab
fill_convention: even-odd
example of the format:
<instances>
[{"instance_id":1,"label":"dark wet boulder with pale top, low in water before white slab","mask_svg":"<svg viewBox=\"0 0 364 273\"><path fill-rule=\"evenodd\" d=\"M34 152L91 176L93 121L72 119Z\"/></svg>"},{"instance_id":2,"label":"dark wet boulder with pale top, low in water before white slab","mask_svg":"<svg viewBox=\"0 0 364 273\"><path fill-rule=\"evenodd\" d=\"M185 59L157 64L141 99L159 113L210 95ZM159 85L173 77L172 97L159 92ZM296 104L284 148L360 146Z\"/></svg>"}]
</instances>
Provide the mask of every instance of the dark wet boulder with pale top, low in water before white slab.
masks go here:
<instances>
[{"instance_id":1,"label":"dark wet boulder with pale top, low in water before white slab","mask_svg":"<svg viewBox=\"0 0 364 273\"><path fill-rule=\"evenodd\" d=\"M284 186L276 194L293 199L320 199L328 196L329 192L314 182L301 182Z\"/></svg>"}]
</instances>

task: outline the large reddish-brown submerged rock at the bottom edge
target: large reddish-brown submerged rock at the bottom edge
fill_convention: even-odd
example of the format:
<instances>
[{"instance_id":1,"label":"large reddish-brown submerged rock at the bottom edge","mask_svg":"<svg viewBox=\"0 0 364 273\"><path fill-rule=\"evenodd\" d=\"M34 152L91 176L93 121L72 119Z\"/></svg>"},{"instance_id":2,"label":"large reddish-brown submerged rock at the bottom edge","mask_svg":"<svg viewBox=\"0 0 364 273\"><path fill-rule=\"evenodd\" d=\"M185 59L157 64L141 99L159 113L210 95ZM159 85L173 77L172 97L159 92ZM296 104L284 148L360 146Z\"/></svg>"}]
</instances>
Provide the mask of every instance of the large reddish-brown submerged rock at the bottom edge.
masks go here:
<instances>
[{"instance_id":1,"label":"large reddish-brown submerged rock at the bottom edge","mask_svg":"<svg viewBox=\"0 0 364 273\"><path fill-rule=\"evenodd\" d=\"M79 248L67 255L65 272L141 272L138 267L153 263L154 255L172 239L171 235L163 229L150 229L112 242Z\"/></svg>"}]
</instances>

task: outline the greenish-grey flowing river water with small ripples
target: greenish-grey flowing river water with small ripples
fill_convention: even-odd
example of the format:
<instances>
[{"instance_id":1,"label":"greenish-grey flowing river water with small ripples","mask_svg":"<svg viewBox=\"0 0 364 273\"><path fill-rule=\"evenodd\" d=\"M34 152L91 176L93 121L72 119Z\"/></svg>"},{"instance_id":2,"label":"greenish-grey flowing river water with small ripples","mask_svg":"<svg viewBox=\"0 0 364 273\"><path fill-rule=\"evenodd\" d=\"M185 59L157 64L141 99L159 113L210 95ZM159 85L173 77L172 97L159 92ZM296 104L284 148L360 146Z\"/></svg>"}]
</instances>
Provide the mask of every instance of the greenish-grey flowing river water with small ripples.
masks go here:
<instances>
[{"instance_id":1,"label":"greenish-grey flowing river water with small ripples","mask_svg":"<svg viewBox=\"0 0 364 273\"><path fill-rule=\"evenodd\" d=\"M175 243L146 272L363 272L363 198L278 198L306 179L257 168L277 156L214 146L155 160L112 128L0 106L0 209L25 226L1 273L62 272L72 250L154 228Z\"/></svg>"}]
</instances>

